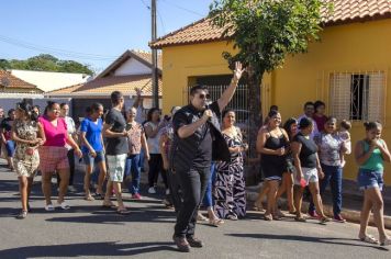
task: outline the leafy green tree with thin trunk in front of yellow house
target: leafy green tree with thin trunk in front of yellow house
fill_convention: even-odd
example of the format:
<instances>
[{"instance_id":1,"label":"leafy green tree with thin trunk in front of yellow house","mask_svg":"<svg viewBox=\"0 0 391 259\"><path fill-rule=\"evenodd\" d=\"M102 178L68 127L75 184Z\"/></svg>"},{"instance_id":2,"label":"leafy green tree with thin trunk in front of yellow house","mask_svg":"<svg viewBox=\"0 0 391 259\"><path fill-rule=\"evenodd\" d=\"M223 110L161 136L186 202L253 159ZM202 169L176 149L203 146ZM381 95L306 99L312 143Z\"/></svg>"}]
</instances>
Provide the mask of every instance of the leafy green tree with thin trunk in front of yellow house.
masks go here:
<instances>
[{"instance_id":1,"label":"leafy green tree with thin trunk in front of yellow house","mask_svg":"<svg viewBox=\"0 0 391 259\"><path fill-rule=\"evenodd\" d=\"M256 139L261 124L260 86L265 72L283 65L287 55L305 53L320 40L322 0L214 0L211 23L238 52L223 53L230 66L239 60L247 67L249 87L249 137ZM255 145L253 143L254 150Z\"/></svg>"}]
</instances>

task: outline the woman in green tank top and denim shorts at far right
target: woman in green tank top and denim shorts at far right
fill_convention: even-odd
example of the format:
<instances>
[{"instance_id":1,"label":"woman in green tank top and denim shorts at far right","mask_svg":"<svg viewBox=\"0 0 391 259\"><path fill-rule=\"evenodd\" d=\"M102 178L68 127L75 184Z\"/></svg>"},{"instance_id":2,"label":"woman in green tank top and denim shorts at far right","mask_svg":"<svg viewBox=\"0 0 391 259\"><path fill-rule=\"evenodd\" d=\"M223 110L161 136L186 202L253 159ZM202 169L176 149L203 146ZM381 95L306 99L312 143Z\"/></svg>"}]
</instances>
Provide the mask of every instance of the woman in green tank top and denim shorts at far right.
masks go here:
<instances>
[{"instance_id":1,"label":"woman in green tank top and denim shorts at far right","mask_svg":"<svg viewBox=\"0 0 391 259\"><path fill-rule=\"evenodd\" d=\"M364 204L360 218L360 230L358 238L361 241L379 244L381 246L391 245L391 237L384 229L384 202L381 191L384 184L384 161L391 161L391 155L386 142L381 138L382 125L379 122L366 122L366 137L357 142L355 147L355 158L359 166L357 182L364 191ZM373 219L379 232L379 240L367 233L370 212L373 212Z\"/></svg>"}]
</instances>

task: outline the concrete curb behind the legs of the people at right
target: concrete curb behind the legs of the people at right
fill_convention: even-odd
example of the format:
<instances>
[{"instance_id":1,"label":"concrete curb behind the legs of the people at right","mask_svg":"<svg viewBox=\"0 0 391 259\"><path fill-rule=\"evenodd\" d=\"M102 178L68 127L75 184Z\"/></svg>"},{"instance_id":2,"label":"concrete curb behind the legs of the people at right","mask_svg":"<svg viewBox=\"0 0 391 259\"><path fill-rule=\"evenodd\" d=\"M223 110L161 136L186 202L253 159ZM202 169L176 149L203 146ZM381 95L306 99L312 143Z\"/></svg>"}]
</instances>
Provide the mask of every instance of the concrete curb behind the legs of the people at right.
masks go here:
<instances>
[{"instance_id":1,"label":"concrete curb behind the legs of the people at right","mask_svg":"<svg viewBox=\"0 0 391 259\"><path fill-rule=\"evenodd\" d=\"M247 201L248 202L254 203L257 200L258 190L259 190L260 187L261 187L261 184L257 185L257 187L247 188ZM281 198L279 200L279 203L282 206L287 206L287 200L286 199ZM309 205L310 205L309 202L303 202L302 211L306 212L308 209L309 209ZM327 216L333 217L333 206L324 204L323 205L323 210L324 210L324 212L325 212L325 214ZM360 211L343 209L342 215L348 222L351 222L351 223L359 223L360 222ZM375 226L373 216L372 215L370 216L369 224ZM391 216L384 216L384 226L386 226L387 229L391 229Z\"/></svg>"}]
</instances>

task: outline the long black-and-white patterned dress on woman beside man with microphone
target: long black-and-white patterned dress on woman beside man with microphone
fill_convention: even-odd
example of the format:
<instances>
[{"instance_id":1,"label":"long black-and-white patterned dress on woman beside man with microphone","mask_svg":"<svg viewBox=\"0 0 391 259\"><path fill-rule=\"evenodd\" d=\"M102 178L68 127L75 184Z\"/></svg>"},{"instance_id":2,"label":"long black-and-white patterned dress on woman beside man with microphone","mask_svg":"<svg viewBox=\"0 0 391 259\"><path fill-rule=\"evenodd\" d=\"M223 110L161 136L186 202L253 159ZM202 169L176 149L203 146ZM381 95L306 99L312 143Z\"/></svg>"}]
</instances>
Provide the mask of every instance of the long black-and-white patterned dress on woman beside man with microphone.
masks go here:
<instances>
[{"instance_id":1,"label":"long black-and-white patterned dress on woman beside man with microphone","mask_svg":"<svg viewBox=\"0 0 391 259\"><path fill-rule=\"evenodd\" d=\"M223 134L228 147L243 145L242 136L232 138ZM246 215L246 189L244 179L243 154L231 153L230 162L220 162L216 166L215 182L215 211L220 218L228 215L244 217Z\"/></svg>"}]
</instances>

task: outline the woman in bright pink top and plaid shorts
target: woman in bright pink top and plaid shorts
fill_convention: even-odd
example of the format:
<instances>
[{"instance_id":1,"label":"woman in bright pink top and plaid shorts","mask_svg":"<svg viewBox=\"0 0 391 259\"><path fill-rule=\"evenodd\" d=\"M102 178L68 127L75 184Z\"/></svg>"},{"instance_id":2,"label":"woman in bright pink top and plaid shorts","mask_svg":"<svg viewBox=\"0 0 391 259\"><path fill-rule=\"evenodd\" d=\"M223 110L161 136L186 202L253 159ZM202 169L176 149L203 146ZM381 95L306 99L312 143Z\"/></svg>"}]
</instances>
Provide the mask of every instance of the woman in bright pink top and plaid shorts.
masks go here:
<instances>
[{"instance_id":1,"label":"woman in bright pink top and plaid shorts","mask_svg":"<svg viewBox=\"0 0 391 259\"><path fill-rule=\"evenodd\" d=\"M40 147L42 171L42 191L44 192L46 211L54 211L52 204L52 176L55 171L58 172L62 181L59 183L59 193L57 204L63 210L68 210L69 205L64 201L64 196L68 189L69 181L69 162L68 149L65 147L69 144L78 157L81 157L81 150L76 144L71 135L67 132L67 124L63 117L59 117L59 104L48 101L43 116L38 119L45 133L45 144Z\"/></svg>"}]
</instances>

